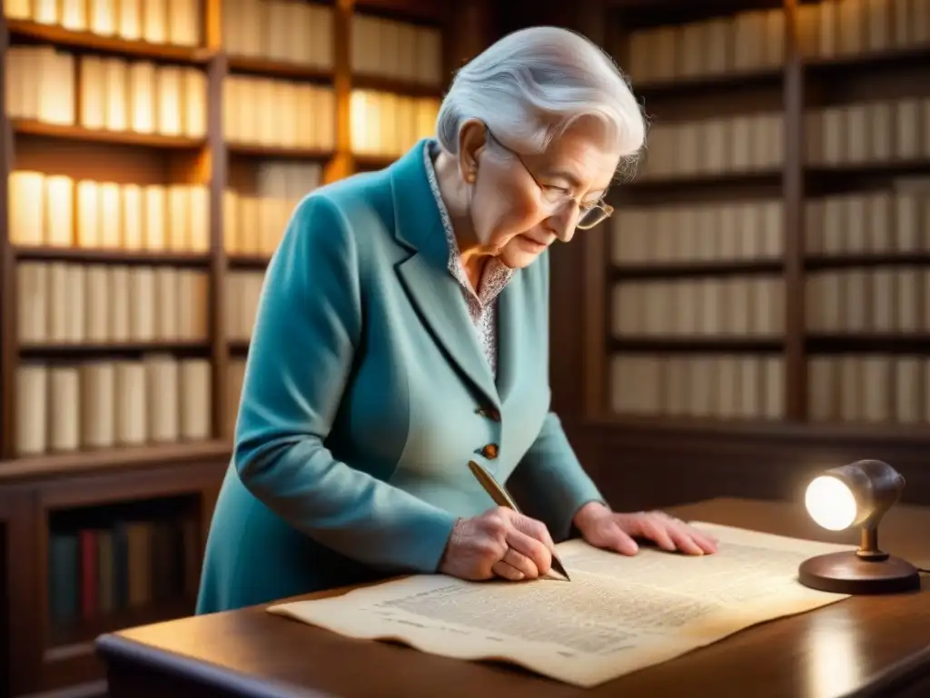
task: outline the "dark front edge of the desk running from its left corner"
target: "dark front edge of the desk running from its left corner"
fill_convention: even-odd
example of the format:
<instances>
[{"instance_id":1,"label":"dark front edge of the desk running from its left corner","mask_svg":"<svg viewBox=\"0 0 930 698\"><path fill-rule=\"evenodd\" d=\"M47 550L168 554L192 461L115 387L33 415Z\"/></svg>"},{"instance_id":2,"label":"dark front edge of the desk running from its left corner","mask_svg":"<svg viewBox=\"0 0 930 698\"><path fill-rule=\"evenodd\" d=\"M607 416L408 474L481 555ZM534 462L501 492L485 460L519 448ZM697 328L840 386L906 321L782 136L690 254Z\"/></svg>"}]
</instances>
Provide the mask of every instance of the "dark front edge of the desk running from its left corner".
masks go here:
<instances>
[{"instance_id":1,"label":"dark front edge of the desk running from its left corner","mask_svg":"<svg viewBox=\"0 0 930 698\"><path fill-rule=\"evenodd\" d=\"M219 664L160 650L113 633L101 635L94 644L108 670L117 664L140 666L243 698L336 698L332 693L252 677Z\"/></svg>"}]
</instances>

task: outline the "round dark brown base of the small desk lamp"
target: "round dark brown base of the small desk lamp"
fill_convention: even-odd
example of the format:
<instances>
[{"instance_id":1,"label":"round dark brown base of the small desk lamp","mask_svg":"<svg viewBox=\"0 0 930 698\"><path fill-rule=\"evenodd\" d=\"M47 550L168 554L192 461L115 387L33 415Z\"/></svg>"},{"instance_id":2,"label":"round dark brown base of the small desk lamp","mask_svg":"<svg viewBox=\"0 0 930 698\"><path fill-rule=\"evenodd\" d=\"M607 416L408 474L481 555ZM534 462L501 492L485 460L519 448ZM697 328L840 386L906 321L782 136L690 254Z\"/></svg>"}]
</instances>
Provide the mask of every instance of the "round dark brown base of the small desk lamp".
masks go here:
<instances>
[{"instance_id":1,"label":"round dark brown base of the small desk lamp","mask_svg":"<svg viewBox=\"0 0 930 698\"><path fill-rule=\"evenodd\" d=\"M804 586L834 594L897 594L921 588L917 568L900 557L859 557L856 551L810 557L798 568Z\"/></svg>"}]
</instances>

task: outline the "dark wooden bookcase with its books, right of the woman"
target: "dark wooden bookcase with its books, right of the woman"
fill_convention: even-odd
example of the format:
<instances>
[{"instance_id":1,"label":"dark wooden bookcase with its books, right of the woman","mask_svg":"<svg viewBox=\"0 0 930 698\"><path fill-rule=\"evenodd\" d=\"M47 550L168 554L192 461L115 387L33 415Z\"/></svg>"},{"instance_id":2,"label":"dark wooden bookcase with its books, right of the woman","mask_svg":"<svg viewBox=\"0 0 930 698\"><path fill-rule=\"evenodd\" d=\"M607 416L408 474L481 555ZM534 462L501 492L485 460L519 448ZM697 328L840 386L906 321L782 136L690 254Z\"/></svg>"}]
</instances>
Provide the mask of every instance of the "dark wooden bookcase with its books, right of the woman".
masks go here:
<instances>
[{"instance_id":1,"label":"dark wooden bookcase with its books, right of the woman","mask_svg":"<svg viewBox=\"0 0 930 698\"><path fill-rule=\"evenodd\" d=\"M650 120L613 219L553 252L553 395L608 496L794 498L886 458L930 503L930 6L551 12Z\"/></svg>"}]
</instances>

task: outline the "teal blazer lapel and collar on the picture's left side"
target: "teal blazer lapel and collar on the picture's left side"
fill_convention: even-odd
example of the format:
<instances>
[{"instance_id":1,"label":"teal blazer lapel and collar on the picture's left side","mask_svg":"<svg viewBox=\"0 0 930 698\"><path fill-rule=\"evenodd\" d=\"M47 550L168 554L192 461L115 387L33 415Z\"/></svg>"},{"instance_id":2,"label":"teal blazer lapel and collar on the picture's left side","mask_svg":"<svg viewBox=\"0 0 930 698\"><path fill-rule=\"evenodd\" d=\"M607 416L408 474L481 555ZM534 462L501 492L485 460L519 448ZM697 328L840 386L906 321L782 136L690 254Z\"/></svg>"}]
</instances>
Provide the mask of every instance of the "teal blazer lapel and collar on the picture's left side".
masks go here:
<instances>
[{"instance_id":1,"label":"teal blazer lapel and collar on the picture's left side","mask_svg":"<svg viewBox=\"0 0 930 698\"><path fill-rule=\"evenodd\" d=\"M397 275L435 341L488 404L500 409L498 391L461 286L448 270L449 248L423 164L420 141L391 166L394 233L413 254Z\"/></svg>"}]
</instances>

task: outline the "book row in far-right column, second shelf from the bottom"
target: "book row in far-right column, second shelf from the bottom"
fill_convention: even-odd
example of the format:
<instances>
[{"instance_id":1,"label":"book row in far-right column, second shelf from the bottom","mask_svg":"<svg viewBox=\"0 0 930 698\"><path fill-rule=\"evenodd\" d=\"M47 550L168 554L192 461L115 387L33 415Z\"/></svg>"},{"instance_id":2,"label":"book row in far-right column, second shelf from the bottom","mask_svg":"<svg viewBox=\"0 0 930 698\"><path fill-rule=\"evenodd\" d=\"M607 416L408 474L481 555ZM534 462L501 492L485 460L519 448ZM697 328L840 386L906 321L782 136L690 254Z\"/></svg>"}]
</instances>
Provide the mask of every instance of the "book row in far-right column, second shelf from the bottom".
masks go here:
<instances>
[{"instance_id":1,"label":"book row in far-right column, second shelf from the bottom","mask_svg":"<svg viewBox=\"0 0 930 698\"><path fill-rule=\"evenodd\" d=\"M930 332L930 269L885 266L808 272L805 321L812 332Z\"/></svg>"}]
</instances>

